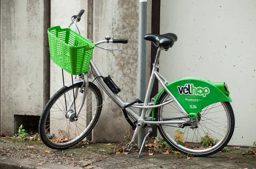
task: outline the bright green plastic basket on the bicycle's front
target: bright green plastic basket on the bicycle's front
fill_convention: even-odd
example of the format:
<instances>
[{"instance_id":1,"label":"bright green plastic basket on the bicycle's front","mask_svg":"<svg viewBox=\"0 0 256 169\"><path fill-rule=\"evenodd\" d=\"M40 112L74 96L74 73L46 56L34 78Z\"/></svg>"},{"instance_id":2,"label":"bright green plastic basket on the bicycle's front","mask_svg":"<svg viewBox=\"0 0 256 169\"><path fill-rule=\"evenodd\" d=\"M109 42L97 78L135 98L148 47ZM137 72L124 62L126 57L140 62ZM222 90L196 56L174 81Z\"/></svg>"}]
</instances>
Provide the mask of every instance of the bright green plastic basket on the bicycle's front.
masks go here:
<instances>
[{"instance_id":1,"label":"bright green plastic basket on the bicycle's front","mask_svg":"<svg viewBox=\"0 0 256 169\"><path fill-rule=\"evenodd\" d=\"M88 71L94 44L75 31L60 26L48 29L53 62L73 75Z\"/></svg>"}]
</instances>

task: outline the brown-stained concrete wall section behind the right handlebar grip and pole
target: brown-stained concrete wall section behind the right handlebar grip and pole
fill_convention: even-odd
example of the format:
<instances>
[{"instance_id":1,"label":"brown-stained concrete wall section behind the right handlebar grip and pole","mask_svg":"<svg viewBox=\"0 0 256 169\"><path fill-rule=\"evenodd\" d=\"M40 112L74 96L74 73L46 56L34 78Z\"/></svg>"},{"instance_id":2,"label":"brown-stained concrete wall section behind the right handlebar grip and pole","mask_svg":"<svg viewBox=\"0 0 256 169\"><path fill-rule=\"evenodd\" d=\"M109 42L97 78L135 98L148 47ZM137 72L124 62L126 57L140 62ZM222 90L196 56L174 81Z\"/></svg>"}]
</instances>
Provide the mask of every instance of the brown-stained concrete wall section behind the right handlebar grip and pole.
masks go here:
<instances>
[{"instance_id":1,"label":"brown-stained concrete wall section behind the right handlebar grip and pole","mask_svg":"<svg viewBox=\"0 0 256 169\"><path fill-rule=\"evenodd\" d=\"M148 18L151 19L151 1L148 1ZM113 39L128 38L128 44L114 44L114 48L125 50L103 51L94 50L93 61L102 76L111 75L113 81L121 88L119 96L124 101L134 101L138 98L138 62L139 62L139 1L138 0L95 0L94 3L93 40L104 39L111 35ZM148 32L151 22L148 20ZM148 43L150 45L150 43ZM103 44L102 47L107 47ZM150 46L148 46L150 49ZM150 73L150 50L147 53L147 76ZM148 76L149 78L149 76ZM106 96L103 110L95 129L94 141L116 142L124 141L129 124L122 110Z\"/></svg>"}]
</instances>

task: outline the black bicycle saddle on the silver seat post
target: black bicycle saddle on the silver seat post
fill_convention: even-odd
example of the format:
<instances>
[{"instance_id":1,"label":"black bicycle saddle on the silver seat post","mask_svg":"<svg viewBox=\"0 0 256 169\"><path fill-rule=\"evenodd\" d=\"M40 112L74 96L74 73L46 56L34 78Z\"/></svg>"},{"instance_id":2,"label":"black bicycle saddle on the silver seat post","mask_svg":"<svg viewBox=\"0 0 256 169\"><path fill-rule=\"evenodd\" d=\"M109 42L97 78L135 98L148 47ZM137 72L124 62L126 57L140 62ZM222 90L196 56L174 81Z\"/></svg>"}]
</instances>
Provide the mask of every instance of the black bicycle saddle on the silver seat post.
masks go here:
<instances>
[{"instance_id":1,"label":"black bicycle saddle on the silver seat post","mask_svg":"<svg viewBox=\"0 0 256 169\"><path fill-rule=\"evenodd\" d=\"M177 35L173 33L167 34L146 34L144 37L145 40L152 41L154 45L158 47L163 47L165 51L172 47L174 42L177 41Z\"/></svg>"}]
</instances>

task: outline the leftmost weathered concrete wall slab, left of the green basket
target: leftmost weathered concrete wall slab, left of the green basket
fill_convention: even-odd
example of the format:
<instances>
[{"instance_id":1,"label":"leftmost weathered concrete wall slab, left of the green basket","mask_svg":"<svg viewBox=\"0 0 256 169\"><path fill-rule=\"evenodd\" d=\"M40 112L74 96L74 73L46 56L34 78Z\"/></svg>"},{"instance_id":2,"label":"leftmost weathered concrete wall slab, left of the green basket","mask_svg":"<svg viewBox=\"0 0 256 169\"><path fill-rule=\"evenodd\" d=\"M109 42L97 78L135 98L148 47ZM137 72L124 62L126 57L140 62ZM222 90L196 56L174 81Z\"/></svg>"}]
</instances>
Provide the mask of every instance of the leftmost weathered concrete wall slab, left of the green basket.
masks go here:
<instances>
[{"instance_id":1,"label":"leftmost weathered concrete wall slab, left of the green basket","mask_svg":"<svg viewBox=\"0 0 256 169\"><path fill-rule=\"evenodd\" d=\"M14 115L41 115L44 107L49 86L44 72L46 1L1 0L1 132L5 134L17 131Z\"/></svg>"}]
</instances>

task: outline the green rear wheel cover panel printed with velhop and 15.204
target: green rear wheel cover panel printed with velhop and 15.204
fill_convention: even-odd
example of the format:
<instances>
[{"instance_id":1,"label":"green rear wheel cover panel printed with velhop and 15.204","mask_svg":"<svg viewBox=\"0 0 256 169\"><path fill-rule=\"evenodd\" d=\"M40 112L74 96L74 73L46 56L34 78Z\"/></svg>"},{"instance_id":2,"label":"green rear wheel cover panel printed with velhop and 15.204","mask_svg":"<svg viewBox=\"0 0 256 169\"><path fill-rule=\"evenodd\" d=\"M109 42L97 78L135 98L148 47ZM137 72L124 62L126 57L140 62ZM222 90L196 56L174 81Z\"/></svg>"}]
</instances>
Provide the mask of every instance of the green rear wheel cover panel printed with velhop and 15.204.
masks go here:
<instances>
[{"instance_id":1,"label":"green rear wheel cover panel printed with velhop and 15.204","mask_svg":"<svg viewBox=\"0 0 256 169\"><path fill-rule=\"evenodd\" d=\"M229 92L224 89L224 84L224 82L213 83L198 77L185 77L170 82L166 87L189 114L189 118L196 118L198 112L212 103L232 101ZM164 89L158 93L154 105L157 104L163 91ZM155 109L152 110L152 120L154 118Z\"/></svg>"}]
</instances>

